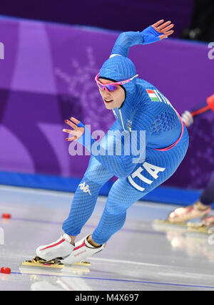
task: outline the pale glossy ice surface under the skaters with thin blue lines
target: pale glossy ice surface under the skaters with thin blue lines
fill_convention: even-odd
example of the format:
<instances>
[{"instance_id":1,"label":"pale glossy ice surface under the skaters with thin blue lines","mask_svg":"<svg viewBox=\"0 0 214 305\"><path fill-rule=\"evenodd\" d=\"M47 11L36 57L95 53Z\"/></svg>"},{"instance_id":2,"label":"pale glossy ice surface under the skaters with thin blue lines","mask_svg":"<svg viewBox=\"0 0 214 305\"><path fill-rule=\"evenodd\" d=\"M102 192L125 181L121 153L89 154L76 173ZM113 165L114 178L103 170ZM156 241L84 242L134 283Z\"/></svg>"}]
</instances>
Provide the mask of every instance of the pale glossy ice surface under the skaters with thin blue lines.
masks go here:
<instances>
[{"instance_id":1,"label":"pale glossy ice surface under the skaters with thin blue lines","mask_svg":"<svg viewBox=\"0 0 214 305\"><path fill-rule=\"evenodd\" d=\"M36 247L60 237L73 194L0 186L0 195L0 214L12 215L0 220L0 267L11 268L11 274L0 274L0 291L214 290L214 244L208 235L153 224L174 206L136 202L106 249L86 259L90 267L47 270L20 264L35 257ZM96 228L105 202L98 198L79 238Z\"/></svg>"}]
</instances>

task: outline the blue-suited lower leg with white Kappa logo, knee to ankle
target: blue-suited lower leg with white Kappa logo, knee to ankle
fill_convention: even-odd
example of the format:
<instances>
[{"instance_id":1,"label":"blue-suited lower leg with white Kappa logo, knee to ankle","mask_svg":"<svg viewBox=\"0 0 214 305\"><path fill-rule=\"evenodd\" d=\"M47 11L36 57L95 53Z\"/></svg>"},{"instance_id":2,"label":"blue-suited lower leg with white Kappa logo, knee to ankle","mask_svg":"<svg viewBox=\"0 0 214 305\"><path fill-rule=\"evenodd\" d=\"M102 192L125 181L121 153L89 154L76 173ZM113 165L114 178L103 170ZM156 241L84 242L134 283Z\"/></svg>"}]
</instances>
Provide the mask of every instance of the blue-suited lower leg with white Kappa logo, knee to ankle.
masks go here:
<instances>
[{"instance_id":1,"label":"blue-suited lower leg with white Kappa logo, knee to ankle","mask_svg":"<svg viewBox=\"0 0 214 305\"><path fill-rule=\"evenodd\" d=\"M83 225L91 217L101 187L112 176L100 162L91 157L88 169L73 197L68 219L63 222L63 231L71 236L71 242L74 242L74 237L81 232Z\"/></svg>"}]
</instances>

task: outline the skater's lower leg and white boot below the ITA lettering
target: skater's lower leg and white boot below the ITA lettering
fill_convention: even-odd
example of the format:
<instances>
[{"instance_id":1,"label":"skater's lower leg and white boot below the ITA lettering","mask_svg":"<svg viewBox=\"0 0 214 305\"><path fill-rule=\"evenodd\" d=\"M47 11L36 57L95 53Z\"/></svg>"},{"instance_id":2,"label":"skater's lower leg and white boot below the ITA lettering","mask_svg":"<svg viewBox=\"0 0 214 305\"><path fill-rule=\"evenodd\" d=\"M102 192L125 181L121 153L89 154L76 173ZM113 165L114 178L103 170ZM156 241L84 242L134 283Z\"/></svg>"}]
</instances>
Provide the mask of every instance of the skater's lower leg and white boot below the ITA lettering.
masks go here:
<instances>
[{"instance_id":1,"label":"skater's lower leg and white boot below the ITA lettering","mask_svg":"<svg viewBox=\"0 0 214 305\"><path fill-rule=\"evenodd\" d=\"M108 195L105 210L98 228L91 235L77 242L73 252L63 259L63 264L74 264L100 252L105 247L105 242L116 233L126 219L126 210L143 195L128 184L126 178L117 180Z\"/></svg>"}]
</instances>

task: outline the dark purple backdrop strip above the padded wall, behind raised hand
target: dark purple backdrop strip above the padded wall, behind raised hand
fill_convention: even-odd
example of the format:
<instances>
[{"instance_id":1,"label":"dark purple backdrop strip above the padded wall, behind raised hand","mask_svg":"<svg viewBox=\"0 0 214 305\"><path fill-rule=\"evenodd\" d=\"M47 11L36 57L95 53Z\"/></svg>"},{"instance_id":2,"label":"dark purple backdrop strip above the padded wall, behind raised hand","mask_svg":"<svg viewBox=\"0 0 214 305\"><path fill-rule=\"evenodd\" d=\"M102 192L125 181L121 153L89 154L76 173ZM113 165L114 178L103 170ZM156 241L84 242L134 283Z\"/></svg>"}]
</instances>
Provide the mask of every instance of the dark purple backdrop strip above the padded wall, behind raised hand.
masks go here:
<instances>
[{"instance_id":1,"label":"dark purple backdrop strip above the padded wall, behind raised hand","mask_svg":"<svg viewBox=\"0 0 214 305\"><path fill-rule=\"evenodd\" d=\"M19 0L1 1L0 14L26 19L98 26L118 31L140 31L165 19L176 24L174 37L191 24L194 0Z\"/></svg>"}]
</instances>

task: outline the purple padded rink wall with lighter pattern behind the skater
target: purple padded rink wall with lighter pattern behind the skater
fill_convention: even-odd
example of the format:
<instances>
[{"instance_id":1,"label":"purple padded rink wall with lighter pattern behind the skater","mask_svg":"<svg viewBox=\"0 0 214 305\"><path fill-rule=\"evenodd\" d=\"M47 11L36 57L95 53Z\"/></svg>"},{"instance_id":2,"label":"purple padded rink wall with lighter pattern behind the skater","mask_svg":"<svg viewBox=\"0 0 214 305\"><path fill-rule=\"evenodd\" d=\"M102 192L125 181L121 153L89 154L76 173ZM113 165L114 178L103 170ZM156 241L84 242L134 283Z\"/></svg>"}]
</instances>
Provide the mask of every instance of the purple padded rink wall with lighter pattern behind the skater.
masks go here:
<instances>
[{"instance_id":1,"label":"purple padded rink wall with lighter pattern behind the skater","mask_svg":"<svg viewBox=\"0 0 214 305\"><path fill-rule=\"evenodd\" d=\"M62 132L73 115L91 130L113 123L94 76L118 33L23 20L0 20L0 170L81 177L89 157L71 157ZM181 113L214 93L208 46L168 39L134 46L140 78L157 86ZM195 120L190 148L165 185L204 187L214 170L213 113Z\"/></svg>"}]
</instances>

